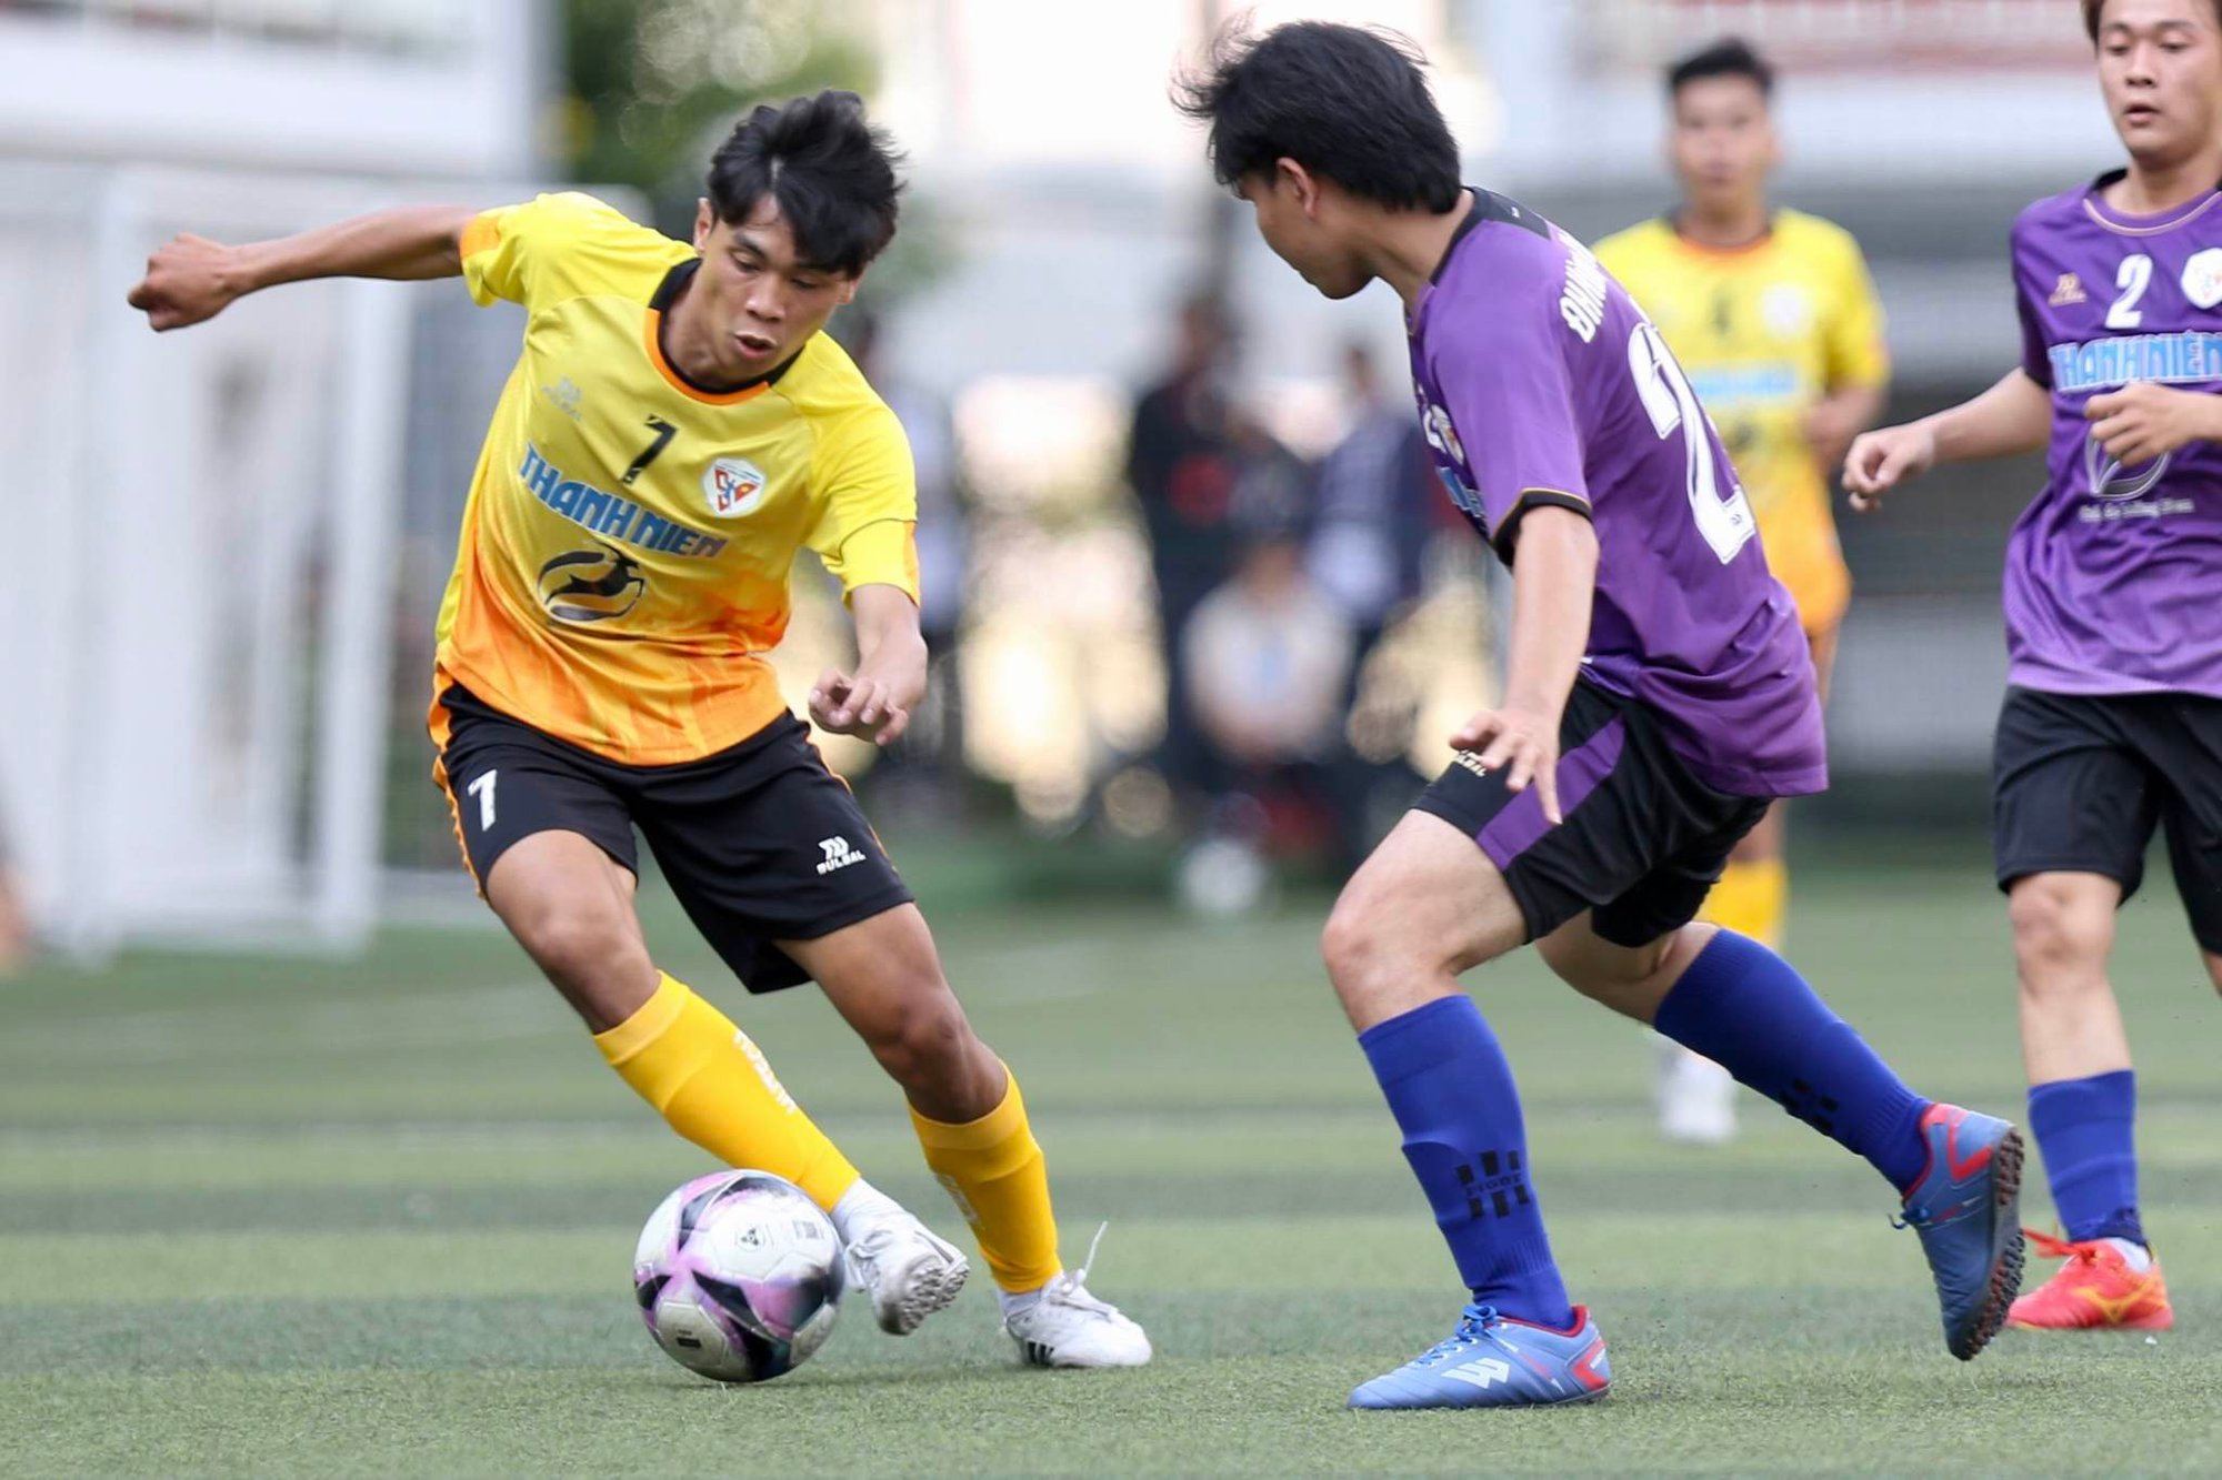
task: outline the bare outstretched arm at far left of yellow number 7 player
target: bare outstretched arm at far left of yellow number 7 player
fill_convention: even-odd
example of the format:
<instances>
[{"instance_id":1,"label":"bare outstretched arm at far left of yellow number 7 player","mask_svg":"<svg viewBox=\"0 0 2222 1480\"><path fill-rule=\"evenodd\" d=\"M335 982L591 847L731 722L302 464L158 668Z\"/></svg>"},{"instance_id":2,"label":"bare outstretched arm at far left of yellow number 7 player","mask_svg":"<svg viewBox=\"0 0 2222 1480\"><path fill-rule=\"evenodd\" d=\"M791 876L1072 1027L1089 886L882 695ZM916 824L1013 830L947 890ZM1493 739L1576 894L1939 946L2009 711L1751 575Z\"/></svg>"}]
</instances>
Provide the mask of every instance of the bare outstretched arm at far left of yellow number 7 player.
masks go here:
<instances>
[{"instance_id":1,"label":"bare outstretched arm at far left of yellow number 7 player","mask_svg":"<svg viewBox=\"0 0 2222 1480\"><path fill-rule=\"evenodd\" d=\"M309 278L453 278L471 207L396 207L267 242L224 244L173 236L151 258L129 302L160 329L222 313L236 298Z\"/></svg>"}]
</instances>

